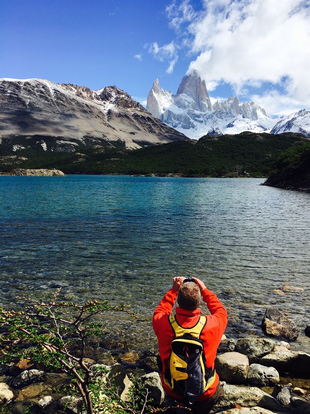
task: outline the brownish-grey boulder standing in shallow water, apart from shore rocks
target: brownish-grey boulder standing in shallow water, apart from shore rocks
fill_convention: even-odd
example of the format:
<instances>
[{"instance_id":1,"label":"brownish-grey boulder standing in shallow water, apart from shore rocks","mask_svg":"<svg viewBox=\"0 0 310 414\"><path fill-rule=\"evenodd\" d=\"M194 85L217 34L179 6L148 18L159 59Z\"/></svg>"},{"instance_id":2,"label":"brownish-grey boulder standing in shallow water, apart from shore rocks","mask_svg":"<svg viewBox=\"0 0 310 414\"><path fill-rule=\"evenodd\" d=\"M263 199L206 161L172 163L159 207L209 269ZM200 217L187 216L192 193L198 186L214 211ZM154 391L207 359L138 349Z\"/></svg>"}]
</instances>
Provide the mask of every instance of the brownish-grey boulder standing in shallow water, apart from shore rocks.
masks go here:
<instances>
[{"instance_id":1,"label":"brownish-grey boulder standing in shallow water, apart from shore rocks","mask_svg":"<svg viewBox=\"0 0 310 414\"><path fill-rule=\"evenodd\" d=\"M278 308L266 310L263 316L262 330L266 335L283 337L290 341L295 341L299 333L295 322L282 314Z\"/></svg>"}]
</instances>

